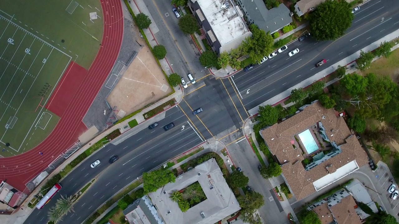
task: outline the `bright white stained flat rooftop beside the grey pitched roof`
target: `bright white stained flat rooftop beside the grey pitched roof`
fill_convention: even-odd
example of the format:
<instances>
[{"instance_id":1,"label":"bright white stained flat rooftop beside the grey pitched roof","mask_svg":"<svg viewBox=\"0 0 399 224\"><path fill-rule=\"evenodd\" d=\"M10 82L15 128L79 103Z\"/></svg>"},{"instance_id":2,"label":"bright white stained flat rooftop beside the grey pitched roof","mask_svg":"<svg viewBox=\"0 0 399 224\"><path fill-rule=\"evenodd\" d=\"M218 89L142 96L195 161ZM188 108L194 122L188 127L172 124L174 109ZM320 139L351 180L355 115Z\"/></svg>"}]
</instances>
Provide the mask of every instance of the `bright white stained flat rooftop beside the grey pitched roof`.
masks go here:
<instances>
[{"instance_id":1,"label":"bright white stained flat rooftop beside the grey pitched roof","mask_svg":"<svg viewBox=\"0 0 399 224\"><path fill-rule=\"evenodd\" d=\"M241 10L229 0L196 1L222 46L249 32L242 19Z\"/></svg>"}]
</instances>

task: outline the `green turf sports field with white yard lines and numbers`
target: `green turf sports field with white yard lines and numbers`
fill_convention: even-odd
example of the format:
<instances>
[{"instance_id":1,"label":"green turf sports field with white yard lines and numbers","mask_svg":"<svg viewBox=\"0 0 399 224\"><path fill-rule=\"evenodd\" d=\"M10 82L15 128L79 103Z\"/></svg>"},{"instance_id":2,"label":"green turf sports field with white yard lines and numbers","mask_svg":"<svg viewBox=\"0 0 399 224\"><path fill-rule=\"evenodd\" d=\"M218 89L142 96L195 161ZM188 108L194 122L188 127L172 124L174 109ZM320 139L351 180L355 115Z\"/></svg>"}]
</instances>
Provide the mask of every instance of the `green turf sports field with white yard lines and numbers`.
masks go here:
<instances>
[{"instance_id":1,"label":"green turf sports field with white yard lines and numbers","mask_svg":"<svg viewBox=\"0 0 399 224\"><path fill-rule=\"evenodd\" d=\"M28 151L51 133L59 117L43 106L71 61L89 69L102 17L97 0L0 1L0 156Z\"/></svg>"}]
</instances>

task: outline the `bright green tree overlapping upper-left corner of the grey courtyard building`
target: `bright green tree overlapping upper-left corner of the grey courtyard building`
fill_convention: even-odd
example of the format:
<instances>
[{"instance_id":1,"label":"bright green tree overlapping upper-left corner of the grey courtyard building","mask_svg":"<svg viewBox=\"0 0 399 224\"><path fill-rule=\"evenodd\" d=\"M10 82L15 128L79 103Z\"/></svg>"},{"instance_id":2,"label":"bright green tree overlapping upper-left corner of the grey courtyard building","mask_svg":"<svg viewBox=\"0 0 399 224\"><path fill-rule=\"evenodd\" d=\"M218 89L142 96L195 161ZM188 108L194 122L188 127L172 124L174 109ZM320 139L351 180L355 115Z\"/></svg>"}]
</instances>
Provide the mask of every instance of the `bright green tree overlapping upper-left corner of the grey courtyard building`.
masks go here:
<instances>
[{"instance_id":1,"label":"bright green tree overlapping upper-left corner of the grey courtyard building","mask_svg":"<svg viewBox=\"0 0 399 224\"><path fill-rule=\"evenodd\" d=\"M151 172L143 173L143 189L144 192L150 193L156 191L158 188L166 185L169 182L174 183L176 177L172 171L168 169L157 169Z\"/></svg>"}]
</instances>

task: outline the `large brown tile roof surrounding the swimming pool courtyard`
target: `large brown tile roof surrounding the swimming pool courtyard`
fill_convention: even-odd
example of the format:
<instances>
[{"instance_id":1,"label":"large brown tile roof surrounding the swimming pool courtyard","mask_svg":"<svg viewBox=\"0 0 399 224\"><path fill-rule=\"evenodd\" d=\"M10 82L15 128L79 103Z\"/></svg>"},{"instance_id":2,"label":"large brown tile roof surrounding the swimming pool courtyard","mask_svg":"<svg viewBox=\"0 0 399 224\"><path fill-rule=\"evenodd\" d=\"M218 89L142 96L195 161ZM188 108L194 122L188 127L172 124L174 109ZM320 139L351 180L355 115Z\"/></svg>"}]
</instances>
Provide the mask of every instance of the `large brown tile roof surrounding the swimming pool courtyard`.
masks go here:
<instances>
[{"instance_id":1,"label":"large brown tile roof surrounding the swimming pool courtyard","mask_svg":"<svg viewBox=\"0 0 399 224\"><path fill-rule=\"evenodd\" d=\"M294 149L290 141L294 135L314 126L319 121L326 128L330 141L341 145L342 153L305 171L301 162L304 159L301 150ZM365 152L356 136L352 136L344 118L337 117L333 109L326 109L319 102L307 106L303 111L279 124L262 130L261 135L271 153L282 164L282 174L297 200L314 193L316 190L312 183L326 176L329 171L335 172L336 169L355 159L359 167L368 162ZM327 168L329 165L332 166Z\"/></svg>"}]
</instances>

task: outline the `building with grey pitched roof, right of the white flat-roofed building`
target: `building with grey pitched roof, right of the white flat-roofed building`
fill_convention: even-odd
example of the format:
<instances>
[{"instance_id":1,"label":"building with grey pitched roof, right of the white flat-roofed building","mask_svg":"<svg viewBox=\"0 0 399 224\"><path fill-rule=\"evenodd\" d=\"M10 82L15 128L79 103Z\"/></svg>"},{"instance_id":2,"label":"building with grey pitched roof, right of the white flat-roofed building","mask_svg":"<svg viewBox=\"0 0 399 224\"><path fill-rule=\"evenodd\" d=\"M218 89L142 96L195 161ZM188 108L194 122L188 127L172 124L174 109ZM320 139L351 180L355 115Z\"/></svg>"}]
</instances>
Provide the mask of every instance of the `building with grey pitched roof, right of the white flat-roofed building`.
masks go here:
<instances>
[{"instance_id":1,"label":"building with grey pitched roof, right of the white flat-roofed building","mask_svg":"<svg viewBox=\"0 0 399 224\"><path fill-rule=\"evenodd\" d=\"M268 10L263 0L237 0L249 24L255 24L266 33L274 33L292 22L290 10L284 5Z\"/></svg>"}]
</instances>

